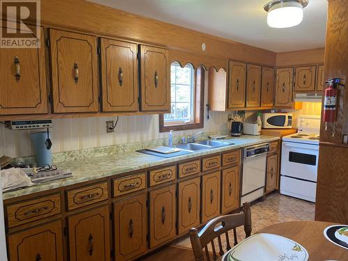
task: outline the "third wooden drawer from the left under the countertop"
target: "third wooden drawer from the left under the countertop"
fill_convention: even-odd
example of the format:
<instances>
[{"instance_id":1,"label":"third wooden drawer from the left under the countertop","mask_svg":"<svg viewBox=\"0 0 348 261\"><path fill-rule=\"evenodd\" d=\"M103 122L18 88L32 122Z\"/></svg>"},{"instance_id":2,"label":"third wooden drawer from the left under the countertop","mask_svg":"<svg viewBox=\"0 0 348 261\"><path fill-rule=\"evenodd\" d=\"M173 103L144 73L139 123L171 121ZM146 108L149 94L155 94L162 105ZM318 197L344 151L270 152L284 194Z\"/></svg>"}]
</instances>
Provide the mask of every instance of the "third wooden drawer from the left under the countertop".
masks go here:
<instances>
[{"instance_id":1,"label":"third wooden drawer from the left under the countertop","mask_svg":"<svg viewBox=\"0 0 348 261\"><path fill-rule=\"evenodd\" d=\"M134 191L145 189L145 173L121 177L113 180L113 196L118 197Z\"/></svg>"}]
</instances>

